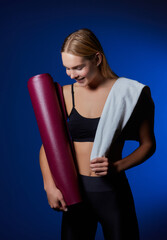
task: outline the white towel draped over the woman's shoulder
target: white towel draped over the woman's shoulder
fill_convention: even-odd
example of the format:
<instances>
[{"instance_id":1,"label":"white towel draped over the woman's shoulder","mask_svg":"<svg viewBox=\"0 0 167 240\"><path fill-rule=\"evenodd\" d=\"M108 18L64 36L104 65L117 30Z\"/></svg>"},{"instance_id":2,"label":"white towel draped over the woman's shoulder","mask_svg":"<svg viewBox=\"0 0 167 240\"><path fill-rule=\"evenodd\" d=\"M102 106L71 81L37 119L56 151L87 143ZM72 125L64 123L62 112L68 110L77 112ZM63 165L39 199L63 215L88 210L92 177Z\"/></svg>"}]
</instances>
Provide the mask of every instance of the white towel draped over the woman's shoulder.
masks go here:
<instances>
[{"instance_id":1,"label":"white towel draped over the woman's shoulder","mask_svg":"<svg viewBox=\"0 0 167 240\"><path fill-rule=\"evenodd\" d=\"M109 146L122 131L145 85L120 77L112 86L96 130L90 160L105 156Z\"/></svg>"}]
</instances>

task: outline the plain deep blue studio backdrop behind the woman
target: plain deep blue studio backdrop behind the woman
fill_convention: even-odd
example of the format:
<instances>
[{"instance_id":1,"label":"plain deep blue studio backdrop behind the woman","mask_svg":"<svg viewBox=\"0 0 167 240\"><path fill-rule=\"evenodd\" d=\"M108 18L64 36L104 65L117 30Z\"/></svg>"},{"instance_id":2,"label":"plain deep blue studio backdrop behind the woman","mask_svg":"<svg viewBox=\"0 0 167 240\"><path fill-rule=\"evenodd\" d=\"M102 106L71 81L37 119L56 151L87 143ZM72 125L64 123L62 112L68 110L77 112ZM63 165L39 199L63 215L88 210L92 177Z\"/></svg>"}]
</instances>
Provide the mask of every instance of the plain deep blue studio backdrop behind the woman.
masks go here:
<instances>
[{"instance_id":1,"label":"plain deep blue studio backdrop behind the woman","mask_svg":"<svg viewBox=\"0 0 167 240\"><path fill-rule=\"evenodd\" d=\"M151 88L156 153L127 171L142 240L167 238L167 5L165 1L0 2L0 239L60 239L61 213L50 209L39 168L41 138L27 81L50 73L72 83L62 66L64 38L90 28L111 68ZM124 155L138 144L128 142ZM103 239L100 226L96 239Z\"/></svg>"}]
</instances>

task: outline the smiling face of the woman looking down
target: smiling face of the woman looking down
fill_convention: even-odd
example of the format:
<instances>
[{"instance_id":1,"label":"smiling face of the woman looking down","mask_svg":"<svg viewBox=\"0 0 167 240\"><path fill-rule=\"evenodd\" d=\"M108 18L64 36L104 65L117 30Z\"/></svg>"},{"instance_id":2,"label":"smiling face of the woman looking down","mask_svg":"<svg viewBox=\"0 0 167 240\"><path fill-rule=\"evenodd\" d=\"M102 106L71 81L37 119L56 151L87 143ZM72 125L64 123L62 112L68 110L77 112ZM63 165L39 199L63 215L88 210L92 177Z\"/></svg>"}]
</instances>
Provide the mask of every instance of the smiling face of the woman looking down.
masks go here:
<instances>
[{"instance_id":1,"label":"smiling face of the woman looking down","mask_svg":"<svg viewBox=\"0 0 167 240\"><path fill-rule=\"evenodd\" d=\"M63 52L62 62L67 75L75 79L80 86L86 86L95 81L99 73L96 61L87 60L84 57Z\"/></svg>"}]
</instances>

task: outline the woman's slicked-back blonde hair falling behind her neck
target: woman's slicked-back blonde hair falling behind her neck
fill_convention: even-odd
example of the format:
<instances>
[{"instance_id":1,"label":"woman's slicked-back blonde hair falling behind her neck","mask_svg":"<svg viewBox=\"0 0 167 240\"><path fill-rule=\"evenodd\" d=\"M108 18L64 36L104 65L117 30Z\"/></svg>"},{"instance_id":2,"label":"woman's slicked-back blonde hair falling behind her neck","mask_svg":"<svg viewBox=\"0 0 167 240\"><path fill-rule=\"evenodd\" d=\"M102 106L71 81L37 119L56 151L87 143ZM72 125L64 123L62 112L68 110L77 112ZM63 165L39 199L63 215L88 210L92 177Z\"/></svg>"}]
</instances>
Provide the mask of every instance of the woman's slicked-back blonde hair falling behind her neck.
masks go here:
<instances>
[{"instance_id":1,"label":"woman's slicked-back blonde hair falling behind her neck","mask_svg":"<svg viewBox=\"0 0 167 240\"><path fill-rule=\"evenodd\" d=\"M77 30L67 36L61 48L61 53L67 52L76 56L93 59L97 52L102 55L102 62L99 69L104 78L117 78L111 70L105 57L103 48L95 34L86 28Z\"/></svg>"}]
</instances>

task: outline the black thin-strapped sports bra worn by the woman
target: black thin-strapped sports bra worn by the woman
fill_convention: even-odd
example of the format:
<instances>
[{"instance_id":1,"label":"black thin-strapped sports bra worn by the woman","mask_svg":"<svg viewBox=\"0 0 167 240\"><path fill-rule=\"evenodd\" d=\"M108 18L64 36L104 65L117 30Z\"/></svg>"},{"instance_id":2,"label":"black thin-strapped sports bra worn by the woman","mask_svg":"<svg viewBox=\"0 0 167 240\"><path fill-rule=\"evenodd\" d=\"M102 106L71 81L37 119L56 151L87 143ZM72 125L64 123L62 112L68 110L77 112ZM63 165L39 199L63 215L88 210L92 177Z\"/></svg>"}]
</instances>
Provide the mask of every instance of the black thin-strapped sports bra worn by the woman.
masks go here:
<instances>
[{"instance_id":1,"label":"black thin-strapped sports bra worn by the woman","mask_svg":"<svg viewBox=\"0 0 167 240\"><path fill-rule=\"evenodd\" d=\"M75 109L74 89L71 85L73 108L69 115L68 127L72 141L93 142L100 117L85 118Z\"/></svg>"}]
</instances>

